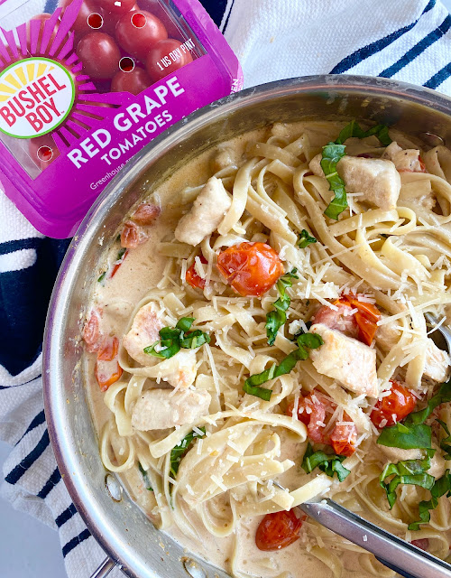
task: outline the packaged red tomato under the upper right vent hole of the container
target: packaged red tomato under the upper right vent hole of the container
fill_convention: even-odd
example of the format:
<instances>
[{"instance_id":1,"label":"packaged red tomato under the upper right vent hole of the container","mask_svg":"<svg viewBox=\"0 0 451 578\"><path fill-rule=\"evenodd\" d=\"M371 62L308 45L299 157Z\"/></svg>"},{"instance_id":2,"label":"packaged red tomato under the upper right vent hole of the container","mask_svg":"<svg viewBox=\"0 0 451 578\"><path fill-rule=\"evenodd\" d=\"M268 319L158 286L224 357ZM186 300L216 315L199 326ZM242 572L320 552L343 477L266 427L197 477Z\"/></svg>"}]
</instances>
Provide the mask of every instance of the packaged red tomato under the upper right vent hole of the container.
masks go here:
<instances>
[{"instance_id":1,"label":"packaged red tomato under the upper right vent hole of the container","mask_svg":"<svg viewBox=\"0 0 451 578\"><path fill-rule=\"evenodd\" d=\"M159 18L139 10L121 16L115 27L115 37L124 51L145 61L152 47L168 38L168 33Z\"/></svg>"}]
</instances>

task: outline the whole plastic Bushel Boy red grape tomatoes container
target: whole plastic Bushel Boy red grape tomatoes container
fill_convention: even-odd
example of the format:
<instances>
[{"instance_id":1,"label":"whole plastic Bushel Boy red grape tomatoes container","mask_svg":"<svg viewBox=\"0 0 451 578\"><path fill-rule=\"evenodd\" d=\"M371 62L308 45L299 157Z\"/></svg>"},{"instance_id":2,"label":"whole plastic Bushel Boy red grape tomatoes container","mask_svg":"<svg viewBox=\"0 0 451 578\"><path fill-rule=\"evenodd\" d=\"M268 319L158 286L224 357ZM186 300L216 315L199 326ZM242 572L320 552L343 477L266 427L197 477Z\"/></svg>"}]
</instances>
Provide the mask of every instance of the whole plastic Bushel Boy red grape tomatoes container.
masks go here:
<instances>
[{"instance_id":1,"label":"whole plastic Bushel Boy red grape tomatoes container","mask_svg":"<svg viewBox=\"0 0 451 578\"><path fill-rule=\"evenodd\" d=\"M152 138L243 85L198 0L7 0L0 27L0 182L50 237Z\"/></svg>"}]
</instances>

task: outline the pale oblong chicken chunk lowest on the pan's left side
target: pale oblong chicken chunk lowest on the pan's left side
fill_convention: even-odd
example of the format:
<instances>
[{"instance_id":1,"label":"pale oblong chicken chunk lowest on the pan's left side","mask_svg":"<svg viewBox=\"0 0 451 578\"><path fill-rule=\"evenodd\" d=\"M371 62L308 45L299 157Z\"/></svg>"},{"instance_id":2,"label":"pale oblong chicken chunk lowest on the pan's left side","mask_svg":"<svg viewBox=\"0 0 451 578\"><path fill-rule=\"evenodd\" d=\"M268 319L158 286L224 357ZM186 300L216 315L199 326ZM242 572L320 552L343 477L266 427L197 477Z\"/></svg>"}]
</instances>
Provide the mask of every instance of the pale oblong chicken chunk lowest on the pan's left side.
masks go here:
<instances>
[{"instance_id":1,"label":"pale oblong chicken chunk lowest on the pan's left side","mask_svg":"<svg viewBox=\"0 0 451 578\"><path fill-rule=\"evenodd\" d=\"M147 432L192 424L208 414L210 401L205 389L148 389L133 407L132 425L135 430Z\"/></svg>"}]
</instances>

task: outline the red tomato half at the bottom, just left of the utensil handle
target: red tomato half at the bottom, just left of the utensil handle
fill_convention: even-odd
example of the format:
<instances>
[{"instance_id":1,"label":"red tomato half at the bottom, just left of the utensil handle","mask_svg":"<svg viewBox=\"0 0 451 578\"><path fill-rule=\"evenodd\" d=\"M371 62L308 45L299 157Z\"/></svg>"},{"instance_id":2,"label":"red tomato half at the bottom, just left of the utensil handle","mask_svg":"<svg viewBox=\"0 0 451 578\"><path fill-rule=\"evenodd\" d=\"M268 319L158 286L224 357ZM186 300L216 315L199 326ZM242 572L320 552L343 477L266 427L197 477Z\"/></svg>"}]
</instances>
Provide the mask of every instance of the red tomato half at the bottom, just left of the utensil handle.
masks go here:
<instances>
[{"instance_id":1,"label":"red tomato half at the bottom, just left of the utensil handle","mask_svg":"<svg viewBox=\"0 0 451 578\"><path fill-rule=\"evenodd\" d=\"M296 542L306 517L297 517L294 509L266 514L255 534L257 548L264 551L280 550Z\"/></svg>"}]
</instances>

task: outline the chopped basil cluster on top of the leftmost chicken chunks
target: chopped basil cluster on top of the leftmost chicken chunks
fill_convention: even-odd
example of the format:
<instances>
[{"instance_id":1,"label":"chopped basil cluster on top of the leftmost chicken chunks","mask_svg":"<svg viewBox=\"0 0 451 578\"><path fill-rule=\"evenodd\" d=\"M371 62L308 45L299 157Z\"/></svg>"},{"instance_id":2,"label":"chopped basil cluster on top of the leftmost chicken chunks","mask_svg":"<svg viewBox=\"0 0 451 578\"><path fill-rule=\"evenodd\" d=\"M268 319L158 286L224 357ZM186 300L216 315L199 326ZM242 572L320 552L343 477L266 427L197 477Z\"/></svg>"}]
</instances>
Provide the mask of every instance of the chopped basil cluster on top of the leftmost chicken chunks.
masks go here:
<instances>
[{"instance_id":1,"label":"chopped basil cluster on top of the leftmost chicken chunks","mask_svg":"<svg viewBox=\"0 0 451 578\"><path fill-rule=\"evenodd\" d=\"M204 331L189 331L194 321L193 317L182 317L175 327L163 327L159 331L161 340L145 347L144 353L156 358L170 359L182 348L196 350L204 343L209 343L210 336Z\"/></svg>"}]
</instances>

